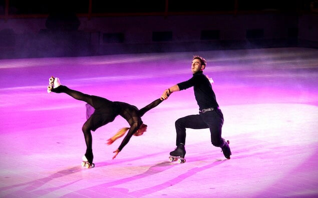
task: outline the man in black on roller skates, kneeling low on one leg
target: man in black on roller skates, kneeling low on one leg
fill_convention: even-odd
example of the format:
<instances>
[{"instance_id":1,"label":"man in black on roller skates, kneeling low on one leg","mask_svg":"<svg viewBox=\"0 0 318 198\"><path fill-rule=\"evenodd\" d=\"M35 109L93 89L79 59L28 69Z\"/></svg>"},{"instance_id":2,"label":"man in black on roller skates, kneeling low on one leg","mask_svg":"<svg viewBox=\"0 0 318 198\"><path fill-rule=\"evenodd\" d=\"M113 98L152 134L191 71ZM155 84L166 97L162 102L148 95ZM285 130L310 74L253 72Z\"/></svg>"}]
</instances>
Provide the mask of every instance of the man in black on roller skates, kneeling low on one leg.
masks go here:
<instances>
[{"instance_id":1,"label":"man in black on roller skates, kneeling low on one leg","mask_svg":"<svg viewBox=\"0 0 318 198\"><path fill-rule=\"evenodd\" d=\"M191 86L194 88L195 99L199 105L199 114L188 115L179 118L175 122L177 131L177 148L170 152L171 156L184 157L185 155L185 128L210 128L211 142L214 146L221 147L226 158L230 158L231 150L228 141L221 137L223 114L216 102L214 91L212 90L209 79L203 74L206 66L206 60L200 56L194 56L191 63L193 77L187 81L180 82L166 89L162 98L167 99L172 92L187 89Z\"/></svg>"}]
</instances>

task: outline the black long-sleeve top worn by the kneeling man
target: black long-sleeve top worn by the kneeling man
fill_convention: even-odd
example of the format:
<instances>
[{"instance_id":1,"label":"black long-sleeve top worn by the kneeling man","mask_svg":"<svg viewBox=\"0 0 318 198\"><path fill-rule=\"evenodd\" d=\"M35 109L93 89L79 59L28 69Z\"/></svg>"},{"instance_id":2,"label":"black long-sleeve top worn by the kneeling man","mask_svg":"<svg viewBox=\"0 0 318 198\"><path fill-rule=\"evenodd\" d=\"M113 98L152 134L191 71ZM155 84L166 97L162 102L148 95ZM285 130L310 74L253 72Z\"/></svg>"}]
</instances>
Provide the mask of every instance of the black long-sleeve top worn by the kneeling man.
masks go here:
<instances>
[{"instance_id":1,"label":"black long-sleeve top worn by the kneeling man","mask_svg":"<svg viewBox=\"0 0 318 198\"><path fill-rule=\"evenodd\" d=\"M203 71L194 73L189 80L180 82L177 85L180 90L193 86L195 99L200 110L210 107L217 108L219 106L216 102L215 93L212 89L211 83L203 74Z\"/></svg>"}]
</instances>

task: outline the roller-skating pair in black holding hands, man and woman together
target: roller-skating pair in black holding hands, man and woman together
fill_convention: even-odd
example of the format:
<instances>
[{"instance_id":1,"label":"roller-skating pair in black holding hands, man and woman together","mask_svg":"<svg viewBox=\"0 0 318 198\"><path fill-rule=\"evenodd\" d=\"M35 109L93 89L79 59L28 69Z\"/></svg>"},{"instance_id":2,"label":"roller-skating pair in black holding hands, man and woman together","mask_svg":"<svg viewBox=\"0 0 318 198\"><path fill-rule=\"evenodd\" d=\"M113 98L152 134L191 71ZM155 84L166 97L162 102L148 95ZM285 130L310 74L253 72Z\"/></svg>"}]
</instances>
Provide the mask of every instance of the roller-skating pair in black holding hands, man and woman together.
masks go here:
<instances>
[{"instance_id":1,"label":"roller-skating pair in black holding hands, man and woman together","mask_svg":"<svg viewBox=\"0 0 318 198\"><path fill-rule=\"evenodd\" d=\"M214 146L221 147L224 156L229 159L231 155L231 150L228 145L229 141L221 137L221 130L224 121L223 114L216 102L215 93L211 86L211 79L203 74L205 66L206 60L203 57L193 56L191 62L191 71L193 76L186 81L175 84L164 90L160 98L154 100L141 109L125 102L110 101L100 96L88 95L80 91L70 89L67 86L62 85L59 78L54 76L49 79L50 85L48 86L48 92L64 92L75 99L87 102L87 120L82 127L87 146L85 155L82 157L82 165L85 167L94 167L91 130L95 131L97 128L112 122L117 115L121 115L127 120L130 127L120 129L113 137L108 139L107 143L111 144L128 131L119 147L114 151L114 159L128 143L132 135L139 136L146 131L147 125L143 123L141 117L148 110L156 107L163 100L167 99L171 93L187 89L192 86L194 88L196 101L199 105L199 114L188 115L177 119L175 122L177 147L175 150L170 152L169 159L171 161L178 160L178 162L185 162L184 156L186 151L184 145L186 128L209 128L212 144Z\"/></svg>"}]
</instances>

